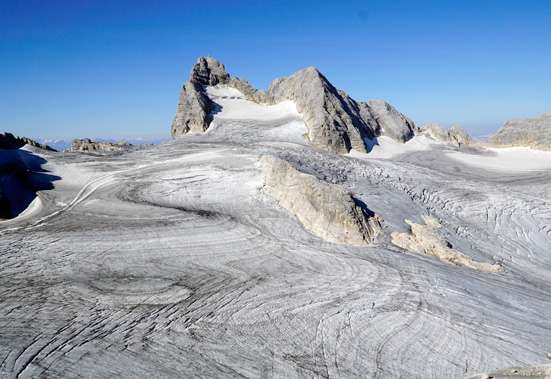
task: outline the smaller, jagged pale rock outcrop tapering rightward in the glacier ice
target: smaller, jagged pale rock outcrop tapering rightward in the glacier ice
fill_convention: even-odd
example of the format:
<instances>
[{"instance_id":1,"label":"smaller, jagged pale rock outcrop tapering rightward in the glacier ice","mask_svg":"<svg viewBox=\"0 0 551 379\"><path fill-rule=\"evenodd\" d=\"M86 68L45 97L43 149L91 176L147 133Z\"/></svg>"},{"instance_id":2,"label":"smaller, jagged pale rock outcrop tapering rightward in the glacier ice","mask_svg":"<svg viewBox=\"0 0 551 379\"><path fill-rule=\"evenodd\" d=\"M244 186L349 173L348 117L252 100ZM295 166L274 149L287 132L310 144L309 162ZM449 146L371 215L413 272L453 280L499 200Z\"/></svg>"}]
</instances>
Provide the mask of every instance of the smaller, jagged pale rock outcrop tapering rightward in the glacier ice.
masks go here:
<instances>
[{"instance_id":1,"label":"smaller, jagged pale rock outcrop tapering rightward in the glacier ice","mask_svg":"<svg viewBox=\"0 0 551 379\"><path fill-rule=\"evenodd\" d=\"M441 229L442 225L428 215L423 215L423 220L426 225L405 220L411 227L411 234L392 232L391 242L414 253L433 255L444 262L462 264L480 271L503 272L499 265L475 261L468 255L452 249L450 244L438 235L438 229Z\"/></svg>"}]
</instances>

